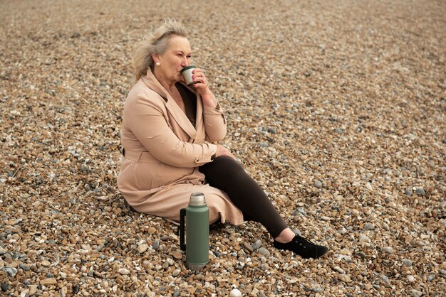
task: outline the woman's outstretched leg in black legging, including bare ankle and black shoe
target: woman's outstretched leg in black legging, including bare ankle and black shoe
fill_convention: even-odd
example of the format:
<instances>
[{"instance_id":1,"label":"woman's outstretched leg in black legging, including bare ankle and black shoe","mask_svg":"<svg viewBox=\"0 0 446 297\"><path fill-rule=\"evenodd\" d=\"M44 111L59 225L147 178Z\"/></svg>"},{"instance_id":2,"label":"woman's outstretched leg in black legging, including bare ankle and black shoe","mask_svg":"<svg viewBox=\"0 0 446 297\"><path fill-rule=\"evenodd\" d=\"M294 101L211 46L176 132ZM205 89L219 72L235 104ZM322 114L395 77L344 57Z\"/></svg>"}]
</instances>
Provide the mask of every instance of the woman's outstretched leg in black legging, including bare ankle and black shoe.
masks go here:
<instances>
[{"instance_id":1,"label":"woman's outstretched leg in black legging, including bare ankle and black shoe","mask_svg":"<svg viewBox=\"0 0 446 297\"><path fill-rule=\"evenodd\" d=\"M313 244L294 234L256 181L233 158L215 158L211 163L200 166L199 171L206 175L209 185L227 193L234 205L242 210L244 217L264 225L274 238L274 247L277 249L315 259L328 251L327 247Z\"/></svg>"}]
</instances>

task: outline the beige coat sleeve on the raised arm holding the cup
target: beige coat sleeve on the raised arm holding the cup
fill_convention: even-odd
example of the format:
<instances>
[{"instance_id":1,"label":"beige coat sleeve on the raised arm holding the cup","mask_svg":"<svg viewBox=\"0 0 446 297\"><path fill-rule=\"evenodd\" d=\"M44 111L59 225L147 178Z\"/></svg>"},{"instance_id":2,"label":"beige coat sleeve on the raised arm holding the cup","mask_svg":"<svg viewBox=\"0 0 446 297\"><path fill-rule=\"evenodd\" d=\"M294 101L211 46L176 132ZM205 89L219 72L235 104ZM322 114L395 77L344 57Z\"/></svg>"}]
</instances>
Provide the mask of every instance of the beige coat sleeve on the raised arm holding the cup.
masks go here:
<instances>
[{"instance_id":1,"label":"beige coat sleeve on the raised arm holding the cup","mask_svg":"<svg viewBox=\"0 0 446 297\"><path fill-rule=\"evenodd\" d=\"M226 118L220 104L217 108L203 106L204 129L207 141L220 141L227 133Z\"/></svg>"}]
</instances>

